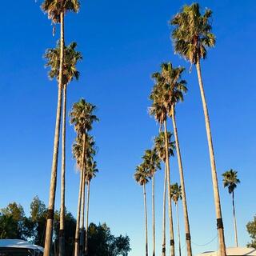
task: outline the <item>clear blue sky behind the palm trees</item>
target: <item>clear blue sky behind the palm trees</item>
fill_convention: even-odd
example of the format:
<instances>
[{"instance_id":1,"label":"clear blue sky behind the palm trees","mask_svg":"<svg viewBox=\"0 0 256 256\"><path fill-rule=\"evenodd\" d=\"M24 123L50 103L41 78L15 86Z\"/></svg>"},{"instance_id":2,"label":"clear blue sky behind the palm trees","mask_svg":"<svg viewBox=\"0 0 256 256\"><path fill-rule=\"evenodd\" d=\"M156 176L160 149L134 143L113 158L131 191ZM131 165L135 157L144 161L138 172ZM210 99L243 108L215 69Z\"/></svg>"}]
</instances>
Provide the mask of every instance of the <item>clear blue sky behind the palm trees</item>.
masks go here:
<instances>
[{"instance_id":1,"label":"clear blue sky behind the palm trees","mask_svg":"<svg viewBox=\"0 0 256 256\"><path fill-rule=\"evenodd\" d=\"M133 179L143 151L152 146L158 126L147 114L153 85L150 74L161 62L186 66L173 54L170 18L191 1L81 1L78 15L66 16L66 43L78 42L83 61L79 82L68 88L68 110L79 98L98 106L94 127L98 177L91 186L90 221L106 222L114 234L128 234L131 256L144 250L142 188ZM219 177L226 244L234 245L231 198L222 188L222 172L238 170L236 190L239 245L250 238L246 223L256 208L254 1L199 1L214 11L217 43L202 62ZM0 208L20 202L29 212L32 198L48 202L57 104L57 85L47 78L42 54L58 39L33 0L2 3L0 32ZM189 91L177 107L194 254L216 250L213 191L202 103L193 69L184 76ZM248 89L248 91L247 91ZM169 122L170 127L170 122ZM73 128L67 126L66 206L76 216L78 174L71 155ZM178 182L176 158L171 178ZM162 170L156 175L157 250L161 248ZM150 212L150 186L147 187ZM59 206L59 186L56 207ZM151 218L149 218L149 225ZM151 226L151 225L150 225ZM181 229L182 225L181 209ZM151 227L150 227L151 230ZM151 239L151 235L150 235ZM182 240L182 246L184 240ZM151 250L151 247L150 247ZM185 247L182 249L185 254Z\"/></svg>"}]
</instances>

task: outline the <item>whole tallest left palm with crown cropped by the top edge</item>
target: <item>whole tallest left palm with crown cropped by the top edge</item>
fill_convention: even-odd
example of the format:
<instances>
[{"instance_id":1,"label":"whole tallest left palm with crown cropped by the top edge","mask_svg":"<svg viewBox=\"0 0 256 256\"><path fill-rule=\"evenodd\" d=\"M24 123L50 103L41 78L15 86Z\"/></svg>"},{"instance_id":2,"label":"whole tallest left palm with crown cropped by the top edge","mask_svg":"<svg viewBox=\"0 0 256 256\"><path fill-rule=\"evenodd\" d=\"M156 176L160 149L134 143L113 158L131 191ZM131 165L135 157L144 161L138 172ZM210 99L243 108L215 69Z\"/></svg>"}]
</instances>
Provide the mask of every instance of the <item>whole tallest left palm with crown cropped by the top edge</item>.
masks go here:
<instances>
[{"instance_id":1,"label":"whole tallest left palm with crown cropped by the top edge","mask_svg":"<svg viewBox=\"0 0 256 256\"><path fill-rule=\"evenodd\" d=\"M46 239L44 246L44 256L50 255L50 247L53 233L54 222L54 203L57 183L57 169L58 169L58 144L59 144L59 130L61 122L62 111L62 74L63 74L63 59L64 59L64 14L68 11L78 12L80 4L78 0L45 0L42 2L42 11L48 14L48 18L56 24L60 23L60 62L58 75L58 104L54 132L54 154L52 161L51 177L50 177L50 196L48 205L48 217L46 223ZM64 253L60 252L60 255Z\"/></svg>"}]
</instances>

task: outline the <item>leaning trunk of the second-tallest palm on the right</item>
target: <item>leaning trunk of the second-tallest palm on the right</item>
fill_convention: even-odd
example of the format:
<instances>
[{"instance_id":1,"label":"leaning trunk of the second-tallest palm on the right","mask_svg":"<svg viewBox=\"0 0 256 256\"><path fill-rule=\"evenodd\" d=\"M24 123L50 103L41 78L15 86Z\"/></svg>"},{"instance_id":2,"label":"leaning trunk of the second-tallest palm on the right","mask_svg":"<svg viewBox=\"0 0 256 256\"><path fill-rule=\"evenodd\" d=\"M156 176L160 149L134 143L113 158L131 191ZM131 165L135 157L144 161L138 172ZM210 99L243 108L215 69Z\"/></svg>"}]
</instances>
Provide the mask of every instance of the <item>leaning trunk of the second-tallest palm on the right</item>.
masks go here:
<instances>
[{"instance_id":1,"label":"leaning trunk of the second-tallest palm on the right","mask_svg":"<svg viewBox=\"0 0 256 256\"><path fill-rule=\"evenodd\" d=\"M178 158L179 177L180 177L181 186L182 186L182 206L183 206L183 213L184 213L184 226L185 226L185 232L186 232L186 251L187 251L187 256L192 256L190 222L189 222L189 215L188 215L187 204L186 204L185 180L184 180L183 166L182 166L182 155L181 155L179 142L178 142L178 130L176 126L174 106L172 106L171 112L172 112L171 117L172 117L173 126L174 126L174 138L176 142L175 145L176 145L177 158Z\"/></svg>"}]
</instances>

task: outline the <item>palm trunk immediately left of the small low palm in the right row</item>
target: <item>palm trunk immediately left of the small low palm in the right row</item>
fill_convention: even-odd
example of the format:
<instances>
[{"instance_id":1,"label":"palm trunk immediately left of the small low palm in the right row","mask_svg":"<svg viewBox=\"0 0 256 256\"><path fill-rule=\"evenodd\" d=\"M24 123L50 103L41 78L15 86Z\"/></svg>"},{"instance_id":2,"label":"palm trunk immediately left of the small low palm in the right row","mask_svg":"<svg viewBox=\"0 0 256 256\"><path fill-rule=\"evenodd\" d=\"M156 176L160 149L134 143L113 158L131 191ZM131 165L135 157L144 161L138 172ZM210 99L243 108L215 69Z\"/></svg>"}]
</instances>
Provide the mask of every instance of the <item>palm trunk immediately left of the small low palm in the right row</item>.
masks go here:
<instances>
[{"instance_id":1,"label":"palm trunk immediately left of the small low palm in the right row","mask_svg":"<svg viewBox=\"0 0 256 256\"><path fill-rule=\"evenodd\" d=\"M170 229L170 255L175 255L174 248L174 222L173 222L173 213L171 207L171 198L170 198L170 162L169 162L169 146L168 146L168 136L167 136L167 127L166 120L164 121L165 127L165 138L166 138L166 178L167 178L167 187L168 187L168 214L169 214L169 229Z\"/></svg>"}]
</instances>

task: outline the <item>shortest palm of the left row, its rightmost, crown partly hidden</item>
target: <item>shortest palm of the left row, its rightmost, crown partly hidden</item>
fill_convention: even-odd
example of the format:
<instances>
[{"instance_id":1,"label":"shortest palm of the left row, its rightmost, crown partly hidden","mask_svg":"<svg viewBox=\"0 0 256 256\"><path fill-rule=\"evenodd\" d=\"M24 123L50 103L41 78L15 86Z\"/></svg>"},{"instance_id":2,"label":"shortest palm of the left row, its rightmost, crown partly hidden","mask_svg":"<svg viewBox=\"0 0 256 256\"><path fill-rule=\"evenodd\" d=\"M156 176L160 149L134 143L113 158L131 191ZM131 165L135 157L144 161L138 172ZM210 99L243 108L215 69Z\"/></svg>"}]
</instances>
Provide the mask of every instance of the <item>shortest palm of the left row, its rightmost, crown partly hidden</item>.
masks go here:
<instances>
[{"instance_id":1,"label":"shortest palm of the left row, its rightmost, crown partly hidden","mask_svg":"<svg viewBox=\"0 0 256 256\"><path fill-rule=\"evenodd\" d=\"M96 177L98 173L97 162L93 161L91 157L89 161L86 162L86 183L87 183L87 202L86 202L86 245L85 245L85 255L88 255L88 227L89 227L89 201L90 201L90 182L92 178Z\"/></svg>"}]
</instances>

